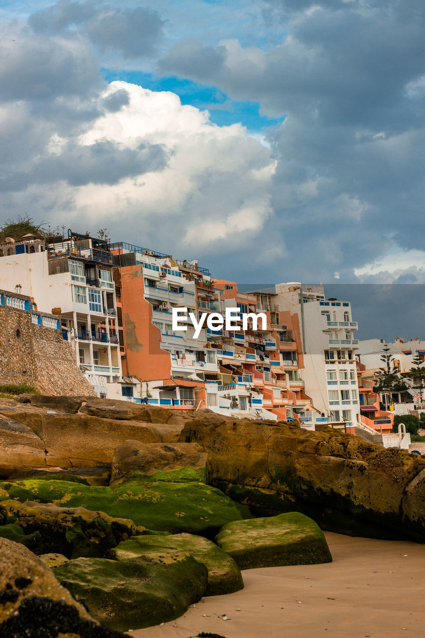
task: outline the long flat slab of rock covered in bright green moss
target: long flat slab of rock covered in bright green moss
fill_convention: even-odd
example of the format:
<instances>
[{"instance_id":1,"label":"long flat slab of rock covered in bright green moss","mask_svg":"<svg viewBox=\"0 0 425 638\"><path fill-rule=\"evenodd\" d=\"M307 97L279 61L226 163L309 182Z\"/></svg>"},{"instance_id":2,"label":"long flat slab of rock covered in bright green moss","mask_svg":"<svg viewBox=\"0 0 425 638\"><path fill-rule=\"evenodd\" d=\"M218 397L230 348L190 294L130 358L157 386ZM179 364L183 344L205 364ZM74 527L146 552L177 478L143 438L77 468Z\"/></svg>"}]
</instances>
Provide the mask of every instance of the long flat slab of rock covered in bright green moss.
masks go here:
<instances>
[{"instance_id":1,"label":"long flat slab of rock covered in bright green moss","mask_svg":"<svg viewBox=\"0 0 425 638\"><path fill-rule=\"evenodd\" d=\"M4 494L0 496L0 505L2 499L53 501L61 507L85 507L113 517L131 517L136 525L152 530L187 531L209 538L214 538L225 523L251 517L248 508L199 482L133 481L101 487L57 480L25 480L3 482L0 488Z\"/></svg>"}]
</instances>

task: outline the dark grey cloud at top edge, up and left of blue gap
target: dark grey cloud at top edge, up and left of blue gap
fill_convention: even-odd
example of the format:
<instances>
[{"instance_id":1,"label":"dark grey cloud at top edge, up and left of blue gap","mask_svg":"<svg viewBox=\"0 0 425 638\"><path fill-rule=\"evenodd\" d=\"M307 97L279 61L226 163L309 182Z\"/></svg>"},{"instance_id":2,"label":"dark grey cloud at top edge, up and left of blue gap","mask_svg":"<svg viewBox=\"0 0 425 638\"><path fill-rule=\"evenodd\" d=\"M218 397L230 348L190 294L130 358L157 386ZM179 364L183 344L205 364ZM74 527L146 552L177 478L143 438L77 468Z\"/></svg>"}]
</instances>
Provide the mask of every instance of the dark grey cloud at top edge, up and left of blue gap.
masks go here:
<instances>
[{"instance_id":1,"label":"dark grey cloud at top edge, up and left of blue gap","mask_svg":"<svg viewBox=\"0 0 425 638\"><path fill-rule=\"evenodd\" d=\"M36 33L86 34L100 51L117 50L124 57L135 58L153 53L163 35L164 21L153 9L116 8L89 1L60 0L59 3L29 17Z\"/></svg>"}]
</instances>

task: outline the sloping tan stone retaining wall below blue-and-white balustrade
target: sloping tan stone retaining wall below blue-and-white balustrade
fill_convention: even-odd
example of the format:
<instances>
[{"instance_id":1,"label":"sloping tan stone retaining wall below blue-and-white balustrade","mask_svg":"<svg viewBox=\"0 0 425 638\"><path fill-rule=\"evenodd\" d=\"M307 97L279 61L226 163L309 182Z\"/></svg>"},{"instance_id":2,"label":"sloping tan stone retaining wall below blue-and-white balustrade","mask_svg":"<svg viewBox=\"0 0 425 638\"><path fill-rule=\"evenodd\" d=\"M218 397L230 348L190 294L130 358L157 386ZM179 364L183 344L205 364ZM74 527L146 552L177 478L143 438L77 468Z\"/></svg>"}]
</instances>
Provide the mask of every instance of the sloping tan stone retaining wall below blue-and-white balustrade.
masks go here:
<instances>
[{"instance_id":1,"label":"sloping tan stone retaining wall below blue-and-white balustrade","mask_svg":"<svg viewBox=\"0 0 425 638\"><path fill-rule=\"evenodd\" d=\"M43 394L96 396L61 330L32 322L31 311L0 306L0 383L26 383Z\"/></svg>"}]
</instances>

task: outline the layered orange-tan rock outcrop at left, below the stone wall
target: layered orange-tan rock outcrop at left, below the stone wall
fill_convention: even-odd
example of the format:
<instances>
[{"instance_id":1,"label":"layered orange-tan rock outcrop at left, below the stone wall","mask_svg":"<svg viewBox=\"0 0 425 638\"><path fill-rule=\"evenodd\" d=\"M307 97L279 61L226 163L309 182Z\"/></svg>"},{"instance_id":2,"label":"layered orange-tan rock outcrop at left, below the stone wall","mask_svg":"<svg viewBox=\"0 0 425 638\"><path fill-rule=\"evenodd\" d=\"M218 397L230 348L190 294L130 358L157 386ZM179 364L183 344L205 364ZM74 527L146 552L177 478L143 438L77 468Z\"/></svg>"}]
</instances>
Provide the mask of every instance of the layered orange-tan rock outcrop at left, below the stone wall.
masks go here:
<instances>
[{"instance_id":1,"label":"layered orange-tan rock outcrop at left, below the stone wall","mask_svg":"<svg viewBox=\"0 0 425 638\"><path fill-rule=\"evenodd\" d=\"M21 395L0 399L0 477L34 467L110 464L126 440L173 443L187 416L128 401Z\"/></svg>"}]
</instances>

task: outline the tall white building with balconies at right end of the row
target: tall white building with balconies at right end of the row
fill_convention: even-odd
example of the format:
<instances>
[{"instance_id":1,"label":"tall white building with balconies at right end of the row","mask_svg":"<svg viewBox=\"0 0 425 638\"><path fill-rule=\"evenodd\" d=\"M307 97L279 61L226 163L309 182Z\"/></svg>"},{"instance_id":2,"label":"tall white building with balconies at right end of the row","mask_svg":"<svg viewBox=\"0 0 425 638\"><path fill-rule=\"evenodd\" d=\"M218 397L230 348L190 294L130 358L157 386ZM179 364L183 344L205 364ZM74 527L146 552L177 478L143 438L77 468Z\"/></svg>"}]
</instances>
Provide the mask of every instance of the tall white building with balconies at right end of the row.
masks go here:
<instances>
[{"instance_id":1,"label":"tall white building with balconies at right end of the row","mask_svg":"<svg viewBox=\"0 0 425 638\"><path fill-rule=\"evenodd\" d=\"M355 352L357 322L350 302L325 299L322 286L301 283L276 285L281 311L298 315L301 332L300 375L306 394L313 401L315 422L332 424L360 421L359 388Z\"/></svg>"}]
</instances>

